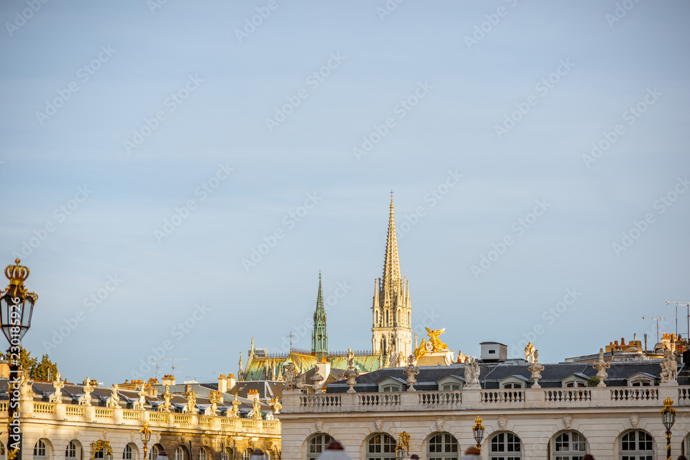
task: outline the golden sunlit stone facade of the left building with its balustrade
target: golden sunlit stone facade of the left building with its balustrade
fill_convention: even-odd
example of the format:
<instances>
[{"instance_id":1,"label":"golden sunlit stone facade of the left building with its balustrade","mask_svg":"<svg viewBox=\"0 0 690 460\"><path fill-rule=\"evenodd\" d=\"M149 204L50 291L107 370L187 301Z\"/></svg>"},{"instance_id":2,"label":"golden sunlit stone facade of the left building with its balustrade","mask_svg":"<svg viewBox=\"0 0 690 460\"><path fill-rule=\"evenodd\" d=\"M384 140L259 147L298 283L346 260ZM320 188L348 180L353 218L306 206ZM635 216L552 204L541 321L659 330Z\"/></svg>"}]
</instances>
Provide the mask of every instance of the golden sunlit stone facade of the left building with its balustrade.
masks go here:
<instances>
[{"instance_id":1,"label":"golden sunlit stone facade of the left building with its balustrade","mask_svg":"<svg viewBox=\"0 0 690 460\"><path fill-rule=\"evenodd\" d=\"M134 393L119 392L123 400L134 396ZM163 448L170 460L204 460L204 457L206 460L242 459L247 449L256 448L266 450L271 458L280 457L281 426L278 420L233 417L229 411L224 415L205 415L204 411L196 409L184 413L164 412L149 407L151 400L147 396L144 407L128 409L123 407L124 404L103 407L91 405L90 401L64 403L43 401L31 395L23 397L20 408L22 460L92 459L92 443L95 441L108 441L113 459L143 460L144 446L139 430L145 421L152 431L149 454ZM98 401L94 403L99 404ZM248 405L244 403L244 406ZM0 426L7 426L7 410L8 401L0 401ZM6 434L1 441L3 447L6 446ZM40 446L34 456L34 447L39 441L45 446L45 454ZM76 448L74 457L68 455L70 443ZM181 458L175 458L178 448L178 457L181 455ZM126 449L131 454L125 452Z\"/></svg>"}]
</instances>

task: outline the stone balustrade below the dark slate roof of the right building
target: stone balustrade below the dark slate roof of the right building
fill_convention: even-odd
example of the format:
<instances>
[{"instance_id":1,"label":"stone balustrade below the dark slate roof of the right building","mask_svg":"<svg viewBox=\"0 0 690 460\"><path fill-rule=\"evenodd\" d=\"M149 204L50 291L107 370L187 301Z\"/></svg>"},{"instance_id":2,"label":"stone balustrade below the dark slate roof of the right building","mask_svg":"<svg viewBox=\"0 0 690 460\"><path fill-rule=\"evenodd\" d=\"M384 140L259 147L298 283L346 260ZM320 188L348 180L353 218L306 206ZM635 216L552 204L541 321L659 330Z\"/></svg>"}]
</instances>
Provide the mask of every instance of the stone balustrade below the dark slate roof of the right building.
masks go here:
<instances>
[{"instance_id":1,"label":"stone balustrade below the dark slate roof of the right building","mask_svg":"<svg viewBox=\"0 0 690 460\"><path fill-rule=\"evenodd\" d=\"M670 397L690 406L690 386L302 394L284 390L284 413L658 407Z\"/></svg>"}]
</instances>

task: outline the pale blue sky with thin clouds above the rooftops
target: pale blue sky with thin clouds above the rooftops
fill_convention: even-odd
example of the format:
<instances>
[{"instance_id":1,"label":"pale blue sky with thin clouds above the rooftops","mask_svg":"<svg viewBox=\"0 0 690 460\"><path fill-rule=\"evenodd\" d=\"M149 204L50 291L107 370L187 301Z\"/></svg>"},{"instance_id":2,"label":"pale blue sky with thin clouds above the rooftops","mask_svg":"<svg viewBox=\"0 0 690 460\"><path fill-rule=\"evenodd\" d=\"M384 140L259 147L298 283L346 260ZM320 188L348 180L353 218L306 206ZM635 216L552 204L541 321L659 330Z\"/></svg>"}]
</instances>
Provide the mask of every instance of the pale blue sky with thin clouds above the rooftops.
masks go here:
<instances>
[{"instance_id":1,"label":"pale blue sky with thin clouds above the rooftops","mask_svg":"<svg viewBox=\"0 0 690 460\"><path fill-rule=\"evenodd\" d=\"M39 294L25 343L40 355L81 310L49 351L70 381L152 377L132 370L167 340L166 358L188 360L179 379L237 372L252 336L275 350L305 330L319 270L326 297L352 286L328 312L331 348L370 348L391 188L413 323L435 318L456 352L517 346L536 327L542 361L559 361L653 330L642 315L673 316L666 299L690 301L690 192L655 206L685 192L678 178L690 174L687 3L626 3L611 21L615 1L408 0L382 20L382 0L278 0L239 43L235 30L268 3L168 0L152 14L145 0L49 1L26 23L26 0L0 7L1 253L11 263L34 230L55 226L21 257ZM488 32L468 46L475 26ZM332 54L341 58L328 76L309 83ZM94 59L85 81L79 69ZM558 82L546 92L549 77ZM78 90L55 114L37 116L70 83ZM186 85L172 110L167 98ZM266 119L302 88L306 99L269 132ZM499 138L495 126L528 100ZM631 118L638 103L646 110ZM159 111L165 119L128 153ZM353 148L388 117L395 126L357 159ZM587 168L582 155L617 124L622 134ZM199 187L219 164L234 170L204 199ZM457 185L429 198L456 170ZM85 185L88 197L70 202ZM315 206L293 221L313 192ZM188 218L157 238L188 200ZM550 207L520 232L537 200ZM63 218L59 206L75 205ZM424 216L402 228L420 206ZM616 254L648 213L652 223ZM276 230L284 237L245 270ZM506 236L513 244L475 276ZM119 286L103 290L115 274ZM582 294L551 319L573 288ZM107 297L85 306L99 289ZM195 303L208 311L179 332ZM309 347L308 335L295 342Z\"/></svg>"}]
</instances>

